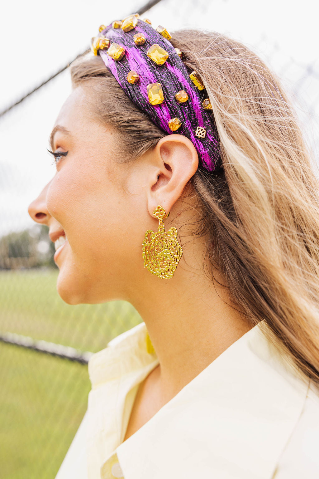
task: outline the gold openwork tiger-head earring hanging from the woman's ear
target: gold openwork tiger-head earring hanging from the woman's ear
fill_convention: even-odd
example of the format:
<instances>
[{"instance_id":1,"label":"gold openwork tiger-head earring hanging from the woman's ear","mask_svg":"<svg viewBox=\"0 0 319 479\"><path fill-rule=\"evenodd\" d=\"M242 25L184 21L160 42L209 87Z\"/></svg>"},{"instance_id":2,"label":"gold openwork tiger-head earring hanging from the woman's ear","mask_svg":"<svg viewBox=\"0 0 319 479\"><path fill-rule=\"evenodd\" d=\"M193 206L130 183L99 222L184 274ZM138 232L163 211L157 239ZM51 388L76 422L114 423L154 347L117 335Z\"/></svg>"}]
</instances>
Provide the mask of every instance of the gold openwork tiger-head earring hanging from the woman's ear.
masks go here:
<instances>
[{"instance_id":1,"label":"gold openwork tiger-head earring hanging from the woman's ear","mask_svg":"<svg viewBox=\"0 0 319 479\"><path fill-rule=\"evenodd\" d=\"M142 252L144 268L152 274L167 279L172 278L183 250L177 240L177 230L173 226L165 231L163 218L167 218L165 208L158 205L153 215L159 220L158 231L148 229L143 240Z\"/></svg>"}]
</instances>

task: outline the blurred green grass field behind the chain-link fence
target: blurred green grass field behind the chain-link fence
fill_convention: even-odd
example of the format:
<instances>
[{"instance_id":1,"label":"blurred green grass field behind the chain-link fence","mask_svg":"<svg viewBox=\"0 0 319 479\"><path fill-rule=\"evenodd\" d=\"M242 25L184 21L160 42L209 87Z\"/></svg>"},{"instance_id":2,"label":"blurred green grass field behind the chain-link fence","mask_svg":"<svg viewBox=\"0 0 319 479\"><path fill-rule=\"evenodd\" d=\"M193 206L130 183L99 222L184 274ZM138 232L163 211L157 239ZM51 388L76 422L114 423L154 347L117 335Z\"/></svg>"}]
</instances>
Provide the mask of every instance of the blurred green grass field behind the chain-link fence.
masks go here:
<instances>
[{"instance_id":1,"label":"blurred green grass field behind the chain-link fence","mask_svg":"<svg viewBox=\"0 0 319 479\"><path fill-rule=\"evenodd\" d=\"M141 321L122 301L67 305L57 275L1 271L0 332L96 352ZM87 366L0 342L0 384L1 479L54 479L87 409Z\"/></svg>"}]
</instances>

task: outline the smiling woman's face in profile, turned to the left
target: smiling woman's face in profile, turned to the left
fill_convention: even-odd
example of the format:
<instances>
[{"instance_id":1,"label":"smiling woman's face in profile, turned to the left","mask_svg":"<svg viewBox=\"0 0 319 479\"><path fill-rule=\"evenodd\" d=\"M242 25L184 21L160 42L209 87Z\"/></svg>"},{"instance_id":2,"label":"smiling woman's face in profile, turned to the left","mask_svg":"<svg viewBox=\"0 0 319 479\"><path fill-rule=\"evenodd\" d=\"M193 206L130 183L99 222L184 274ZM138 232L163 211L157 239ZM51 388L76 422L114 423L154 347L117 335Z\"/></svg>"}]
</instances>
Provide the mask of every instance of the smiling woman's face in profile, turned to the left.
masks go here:
<instances>
[{"instance_id":1,"label":"smiling woman's face in profile, turned to the left","mask_svg":"<svg viewBox=\"0 0 319 479\"><path fill-rule=\"evenodd\" d=\"M28 211L51 239L66 234L55 258L58 293L68 304L127 299L143 275L143 232L157 224L147 211L147 163L114 161L116 133L90 113L85 86L67 98L54 130L52 150L67 154L56 159L55 176Z\"/></svg>"}]
</instances>

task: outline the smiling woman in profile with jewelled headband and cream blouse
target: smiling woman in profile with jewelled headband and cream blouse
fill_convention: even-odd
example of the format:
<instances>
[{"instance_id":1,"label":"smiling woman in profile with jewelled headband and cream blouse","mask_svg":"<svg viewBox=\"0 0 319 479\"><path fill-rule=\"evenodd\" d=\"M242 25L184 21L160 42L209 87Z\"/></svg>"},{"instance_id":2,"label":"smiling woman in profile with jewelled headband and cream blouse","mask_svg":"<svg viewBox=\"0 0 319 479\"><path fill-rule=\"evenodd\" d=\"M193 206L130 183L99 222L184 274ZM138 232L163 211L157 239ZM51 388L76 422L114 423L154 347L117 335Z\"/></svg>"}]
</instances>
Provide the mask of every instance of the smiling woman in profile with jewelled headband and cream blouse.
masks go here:
<instances>
[{"instance_id":1,"label":"smiling woman in profile with jewelled headband and cream blouse","mask_svg":"<svg viewBox=\"0 0 319 479\"><path fill-rule=\"evenodd\" d=\"M29 213L66 303L127 300L143 323L90 359L57 478L318 478L318 181L279 81L138 15L92 50Z\"/></svg>"}]
</instances>

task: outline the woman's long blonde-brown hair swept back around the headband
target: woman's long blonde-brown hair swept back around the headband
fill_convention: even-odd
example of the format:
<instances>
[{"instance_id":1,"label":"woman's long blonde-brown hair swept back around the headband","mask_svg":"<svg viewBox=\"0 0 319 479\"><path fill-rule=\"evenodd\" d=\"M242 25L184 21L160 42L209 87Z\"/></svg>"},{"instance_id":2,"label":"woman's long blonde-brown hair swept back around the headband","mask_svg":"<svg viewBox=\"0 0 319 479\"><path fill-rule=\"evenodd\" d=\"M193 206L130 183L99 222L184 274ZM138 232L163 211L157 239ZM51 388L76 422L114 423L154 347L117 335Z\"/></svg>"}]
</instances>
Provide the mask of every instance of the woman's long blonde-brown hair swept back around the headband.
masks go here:
<instances>
[{"instance_id":1,"label":"woman's long blonde-brown hair swept back around the headband","mask_svg":"<svg viewBox=\"0 0 319 479\"><path fill-rule=\"evenodd\" d=\"M211 279L219 269L252 326L264 319L266 333L319 385L319 184L294 110L275 75L237 41L180 30L171 43L203 78L220 139L220 167L199 168L190 180ZM89 80L94 112L125 142L125 161L166 135L99 56L78 58L70 71L74 86Z\"/></svg>"}]
</instances>

